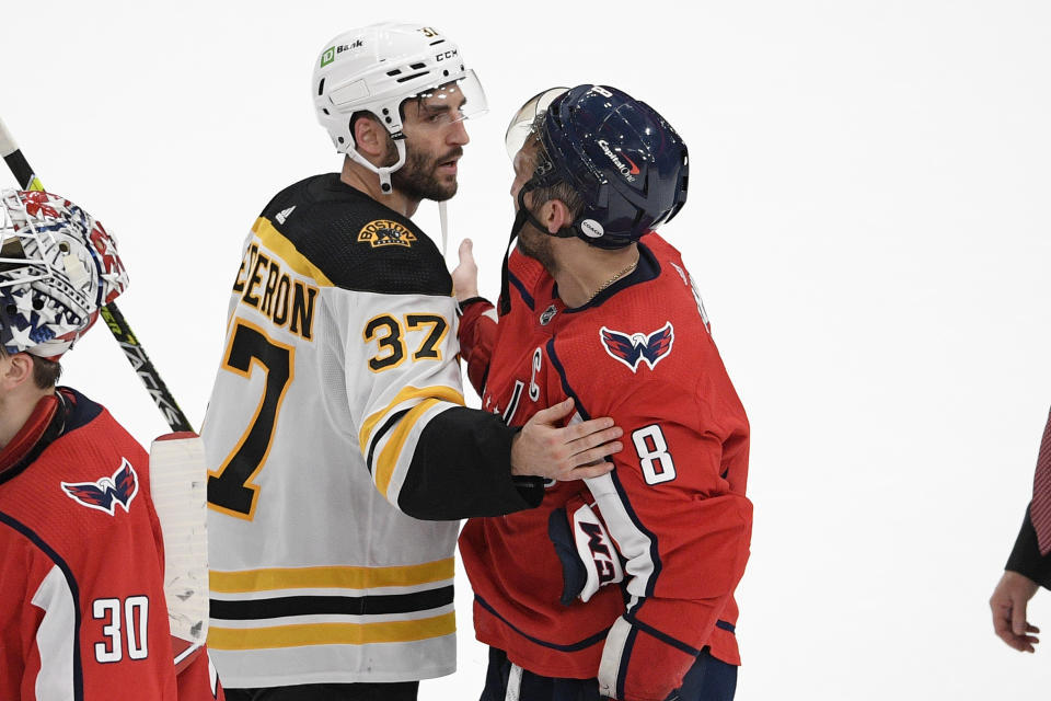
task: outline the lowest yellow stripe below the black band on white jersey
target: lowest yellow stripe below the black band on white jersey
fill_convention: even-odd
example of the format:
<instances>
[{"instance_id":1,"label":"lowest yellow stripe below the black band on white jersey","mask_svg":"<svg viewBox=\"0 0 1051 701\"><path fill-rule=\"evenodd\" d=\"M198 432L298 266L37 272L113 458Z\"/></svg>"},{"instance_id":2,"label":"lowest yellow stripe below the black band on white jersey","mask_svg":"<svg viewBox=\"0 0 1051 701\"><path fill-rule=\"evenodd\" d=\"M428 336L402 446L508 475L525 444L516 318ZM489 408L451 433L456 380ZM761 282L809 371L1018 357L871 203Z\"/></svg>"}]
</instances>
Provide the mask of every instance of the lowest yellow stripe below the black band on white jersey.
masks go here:
<instances>
[{"instance_id":1,"label":"lowest yellow stripe below the black band on white jersey","mask_svg":"<svg viewBox=\"0 0 1051 701\"><path fill-rule=\"evenodd\" d=\"M451 635L457 631L455 613L449 612L415 621L384 623L303 623L270 628L208 629L212 650L267 650L303 645L366 645L406 643Z\"/></svg>"}]
</instances>

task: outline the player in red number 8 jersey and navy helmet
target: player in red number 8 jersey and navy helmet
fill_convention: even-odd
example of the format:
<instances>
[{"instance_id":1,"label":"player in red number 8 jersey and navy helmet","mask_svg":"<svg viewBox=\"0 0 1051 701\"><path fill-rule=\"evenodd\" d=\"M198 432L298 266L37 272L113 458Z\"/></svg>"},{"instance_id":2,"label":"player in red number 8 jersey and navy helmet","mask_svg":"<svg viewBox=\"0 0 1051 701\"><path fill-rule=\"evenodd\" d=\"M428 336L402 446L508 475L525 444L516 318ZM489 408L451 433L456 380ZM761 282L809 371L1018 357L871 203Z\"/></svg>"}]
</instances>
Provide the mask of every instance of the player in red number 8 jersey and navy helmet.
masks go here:
<instances>
[{"instance_id":1,"label":"player in red number 8 jersey and navy helmet","mask_svg":"<svg viewBox=\"0 0 1051 701\"><path fill-rule=\"evenodd\" d=\"M589 84L527 103L508 151L518 245L499 313L476 297L470 242L453 272L469 377L511 425L571 398L575 420L612 416L631 440L610 474L464 527L482 699L731 699L749 426L693 280L652 233L685 202L686 147Z\"/></svg>"}]
</instances>

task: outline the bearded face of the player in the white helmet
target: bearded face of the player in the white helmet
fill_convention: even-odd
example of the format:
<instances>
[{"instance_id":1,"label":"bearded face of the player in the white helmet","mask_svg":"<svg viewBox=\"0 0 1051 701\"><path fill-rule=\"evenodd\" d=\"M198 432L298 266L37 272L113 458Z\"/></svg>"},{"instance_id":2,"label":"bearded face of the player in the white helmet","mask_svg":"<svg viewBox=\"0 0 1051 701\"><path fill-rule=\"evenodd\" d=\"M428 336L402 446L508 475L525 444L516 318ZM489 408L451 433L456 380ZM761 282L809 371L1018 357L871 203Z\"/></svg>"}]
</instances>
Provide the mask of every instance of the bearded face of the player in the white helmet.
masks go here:
<instances>
[{"instance_id":1,"label":"bearded face of the player in the white helmet","mask_svg":"<svg viewBox=\"0 0 1051 701\"><path fill-rule=\"evenodd\" d=\"M463 104L463 95L455 90L438 90L405 103L405 164L394 171L391 182L411 198L441 202L457 194L457 165L470 140ZM393 142L388 160L397 160Z\"/></svg>"}]
</instances>

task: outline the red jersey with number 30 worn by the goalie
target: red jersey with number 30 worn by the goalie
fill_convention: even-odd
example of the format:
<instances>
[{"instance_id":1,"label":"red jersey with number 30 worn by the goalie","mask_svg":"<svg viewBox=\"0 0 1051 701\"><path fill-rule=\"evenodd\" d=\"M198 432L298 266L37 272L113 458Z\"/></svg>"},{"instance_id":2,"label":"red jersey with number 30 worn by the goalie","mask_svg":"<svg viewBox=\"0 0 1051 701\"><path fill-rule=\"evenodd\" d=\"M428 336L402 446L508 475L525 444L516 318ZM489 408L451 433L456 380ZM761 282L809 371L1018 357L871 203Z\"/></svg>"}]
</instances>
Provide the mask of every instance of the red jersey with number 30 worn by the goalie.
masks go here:
<instances>
[{"instance_id":1,"label":"red jersey with number 30 worn by the goalie","mask_svg":"<svg viewBox=\"0 0 1051 701\"><path fill-rule=\"evenodd\" d=\"M148 456L105 409L59 395L0 472L0 698L175 701ZM200 659L183 699L221 699Z\"/></svg>"}]
</instances>

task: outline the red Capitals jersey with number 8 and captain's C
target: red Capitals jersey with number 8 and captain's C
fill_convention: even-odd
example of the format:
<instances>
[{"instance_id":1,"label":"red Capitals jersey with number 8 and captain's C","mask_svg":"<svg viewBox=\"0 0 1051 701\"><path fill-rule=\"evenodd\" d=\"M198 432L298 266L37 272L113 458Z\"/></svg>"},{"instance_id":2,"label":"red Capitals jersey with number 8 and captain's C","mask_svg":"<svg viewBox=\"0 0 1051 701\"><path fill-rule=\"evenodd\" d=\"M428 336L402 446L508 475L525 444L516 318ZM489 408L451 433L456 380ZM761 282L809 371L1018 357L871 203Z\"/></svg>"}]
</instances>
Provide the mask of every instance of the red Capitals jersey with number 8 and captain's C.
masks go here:
<instances>
[{"instance_id":1,"label":"red Capitals jersey with number 8 and captain's C","mask_svg":"<svg viewBox=\"0 0 1051 701\"><path fill-rule=\"evenodd\" d=\"M702 648L740 664L732 593L748 559L748 420L679 253L649 234L634 273L567 309L553 278L510 258L511 311L465 304L461 353L483 409L511 425L573 398L581 420L624 429L616 469L551 485L534 509L471 519L460 550L480 641L550 677L598 677L605 696L665 699ZM551 513L592 492L623 589L559 602ZM626 601L626 604L625 604Z\"/></svg>"}]
</instances>

